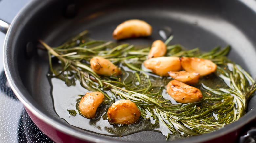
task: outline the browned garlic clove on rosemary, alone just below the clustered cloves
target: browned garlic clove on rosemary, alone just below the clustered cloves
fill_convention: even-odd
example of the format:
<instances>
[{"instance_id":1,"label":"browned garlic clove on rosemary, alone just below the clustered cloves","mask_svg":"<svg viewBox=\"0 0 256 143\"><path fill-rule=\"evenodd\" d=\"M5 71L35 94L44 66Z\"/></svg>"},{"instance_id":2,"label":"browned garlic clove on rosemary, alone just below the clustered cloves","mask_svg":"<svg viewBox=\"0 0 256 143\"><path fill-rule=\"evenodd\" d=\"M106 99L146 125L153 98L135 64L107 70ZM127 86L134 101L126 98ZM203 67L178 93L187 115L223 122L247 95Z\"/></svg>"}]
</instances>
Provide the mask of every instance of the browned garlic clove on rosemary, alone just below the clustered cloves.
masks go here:
<instances>
[{"instance_id":1,"label":"browned garlic clove on rosemary, alone just below the clustered cloves","mask_svg":"<svg viewBox=\"0 0 256 143\"><path fill-rule=\"evenodd\" d=\"M203 98L201 91L177 80L168 83L166 91L179 103L192 103Z\"/></svg>"}]
</instances>

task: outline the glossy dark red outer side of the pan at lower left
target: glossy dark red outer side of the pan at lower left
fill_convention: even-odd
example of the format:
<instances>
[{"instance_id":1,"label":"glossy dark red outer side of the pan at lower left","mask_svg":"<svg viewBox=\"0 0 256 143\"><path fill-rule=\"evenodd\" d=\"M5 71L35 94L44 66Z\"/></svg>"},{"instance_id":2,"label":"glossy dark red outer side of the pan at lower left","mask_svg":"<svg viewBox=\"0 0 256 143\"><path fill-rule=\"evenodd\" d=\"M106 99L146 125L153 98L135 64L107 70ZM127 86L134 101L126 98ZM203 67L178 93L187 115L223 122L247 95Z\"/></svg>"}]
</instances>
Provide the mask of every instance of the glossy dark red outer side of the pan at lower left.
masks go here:
<instances>
[{"instance_id":1,"label":"glossy dark red outer side of the pan at lower left","mask_svg":"<svg viewBox=\"0 0 256 143\"><path fill-rule=\"evenodd\" d=\"M26 108L25 106L24 108L29 114L30 118L36 124L36 126L54 142L56 143L89 143L54 129L52 126L46 124L41 119L37 118L32 112L30 112L28 108Z\"/></svg>"}]
</instances>

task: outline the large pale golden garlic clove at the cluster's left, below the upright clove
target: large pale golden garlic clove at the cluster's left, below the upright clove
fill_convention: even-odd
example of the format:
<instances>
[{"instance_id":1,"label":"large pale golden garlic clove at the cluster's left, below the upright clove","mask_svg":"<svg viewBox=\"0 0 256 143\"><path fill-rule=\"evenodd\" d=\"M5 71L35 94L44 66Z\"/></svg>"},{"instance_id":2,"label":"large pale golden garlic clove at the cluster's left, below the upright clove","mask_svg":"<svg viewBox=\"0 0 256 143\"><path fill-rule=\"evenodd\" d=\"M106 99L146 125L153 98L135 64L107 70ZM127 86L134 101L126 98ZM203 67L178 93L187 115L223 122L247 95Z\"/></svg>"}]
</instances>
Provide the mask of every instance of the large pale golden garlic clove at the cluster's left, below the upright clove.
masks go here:
<instances>
[{"instance_id":1,"label":"large pale golden garlic clove at the cluster's left, below the upright clove","mask_svg":"<svg viewBox=\"0 0 256 143\"><path fill-rule=\"evenodd\" d=\"M168 76L168 71L180 71L178 57L156 57L144 61L144 66L159 76Z\"/></svg>"}]
</instances>

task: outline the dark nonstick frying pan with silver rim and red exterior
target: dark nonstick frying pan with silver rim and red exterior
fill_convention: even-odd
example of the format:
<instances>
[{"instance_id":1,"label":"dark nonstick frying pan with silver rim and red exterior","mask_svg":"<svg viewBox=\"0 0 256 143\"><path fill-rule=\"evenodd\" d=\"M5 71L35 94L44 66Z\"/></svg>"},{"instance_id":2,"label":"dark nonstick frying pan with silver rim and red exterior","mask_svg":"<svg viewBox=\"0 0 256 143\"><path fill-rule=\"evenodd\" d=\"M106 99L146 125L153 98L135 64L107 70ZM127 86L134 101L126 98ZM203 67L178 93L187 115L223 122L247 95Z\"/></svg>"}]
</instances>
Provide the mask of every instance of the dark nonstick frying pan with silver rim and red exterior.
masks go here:
<instances>
[{"instance_id":1,"label":"dark nonstick frying pan with silver rim and red exterior","mask_svg":"<svg viewBox=\"0 0 256 143\"><path fill-rule=\"evenodd\" d=\"M53 108L47 53L37 40L58 46L83 30L95 40L113 40L112 31L128 19L153 27L150 37L121 40L150 45L158 31L172 28L174 39L188 49L203 51L231 45L229 58L256 76L255 0L33 0L11 23L4 44L4 69L12 90L36 125L55 142L165 142L165 137L142 131L124 137L99 135L69 125ZM161 39L162 40L162 39ZM241 129L256 118L256 96L248 113L216 132L173 142L235 142Z\"/></svg>"}]
</instances>

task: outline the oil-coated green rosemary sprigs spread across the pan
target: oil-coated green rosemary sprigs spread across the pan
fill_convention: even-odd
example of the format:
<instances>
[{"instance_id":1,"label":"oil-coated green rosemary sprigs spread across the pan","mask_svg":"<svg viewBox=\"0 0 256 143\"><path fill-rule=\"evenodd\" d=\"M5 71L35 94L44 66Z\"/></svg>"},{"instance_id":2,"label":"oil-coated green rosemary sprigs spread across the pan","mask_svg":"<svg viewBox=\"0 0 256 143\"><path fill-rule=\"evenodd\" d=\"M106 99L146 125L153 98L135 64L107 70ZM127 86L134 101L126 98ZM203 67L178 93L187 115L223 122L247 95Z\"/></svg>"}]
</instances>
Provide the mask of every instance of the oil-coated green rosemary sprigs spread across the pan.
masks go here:
<instances>
[{"instance_id":1,"label":"oil-coated green rosemary sprigs spread across the pan","mask_svg":"<svg viewBox=\"0 0 256 143\"><path fill-rule=\"evenodd\" d=\"M223 128L245 114L247 100L256 90L255 81L251 76L225 57L230 46L223 50L216 47L207 53L202 53L199 48L183 50L181 45L168 45L173 38L171 36L165 42L167 45L165 56L210 59L218 64L215 74L223 80L221 83L225 85L222 86L223 88L209 87L202 82L199 86L204 90L203 100L188 104L172 104L162 96L166 85L156 83L155 76L151 76L151 73L141 68L150 50L149 47L136 49L129 44L86 41L82 39L86 33L87 31L84 31L55 48L39 40L48 50L51 76L62 79L67 85L72 85L68 83L77 79L84 88L102 92L110 101L115 98L129 99L137 105L142 118L151 117L158 120L172 134L184 132L185 135L199 135ZM83 42L77 42L77 40ZM61 62L61 70L53 66L51 55ZM105 57L119 64L127 70L126 74L136 80L128 80L127 77L122 78L122 76L98 76L89 65L90 59L94 56ZM159 79L161 82L168 80ZM139 82L139 85L136 82ZM106 94L106 90L112 95Z\"/></svg>"}]
</instances>

